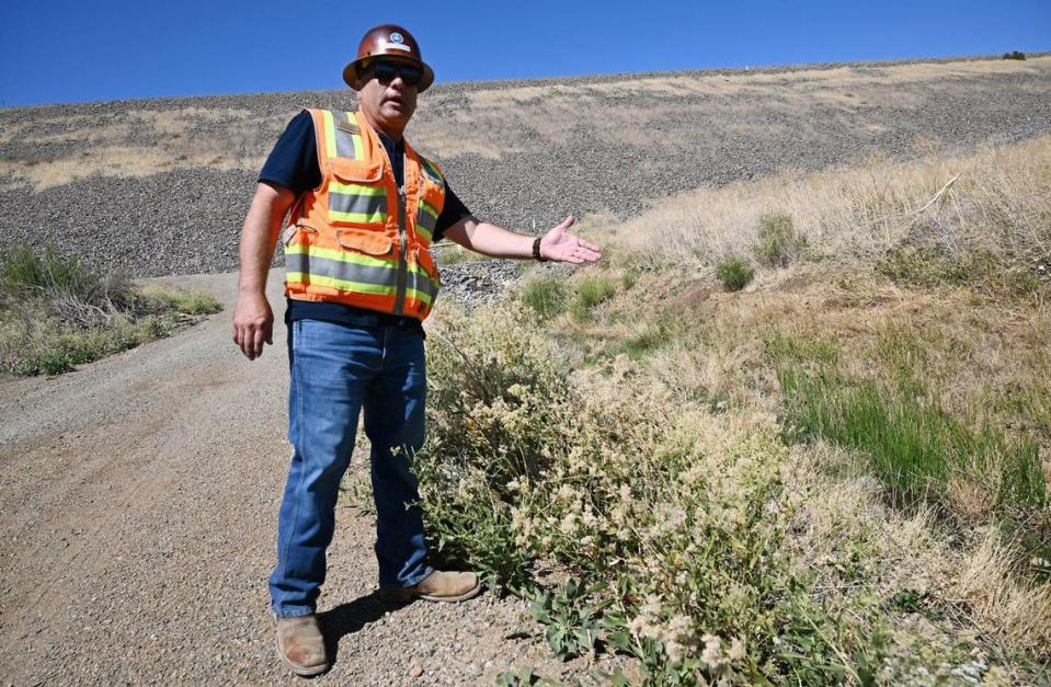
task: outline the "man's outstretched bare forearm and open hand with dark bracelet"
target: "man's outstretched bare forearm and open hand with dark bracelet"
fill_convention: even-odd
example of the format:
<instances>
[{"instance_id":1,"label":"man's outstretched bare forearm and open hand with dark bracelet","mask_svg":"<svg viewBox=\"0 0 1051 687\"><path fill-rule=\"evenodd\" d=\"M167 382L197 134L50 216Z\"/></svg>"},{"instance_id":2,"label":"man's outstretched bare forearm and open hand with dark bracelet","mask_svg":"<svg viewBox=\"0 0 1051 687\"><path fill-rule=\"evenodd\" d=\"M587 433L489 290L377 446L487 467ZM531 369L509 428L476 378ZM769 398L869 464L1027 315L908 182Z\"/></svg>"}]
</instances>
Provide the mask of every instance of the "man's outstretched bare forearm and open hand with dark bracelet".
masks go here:
<instances>
[{"instance_id":1,"label":"man's outstretched bare forearm and open hand with dark bracelet","mask_svg":"<svg viewBox=\"0 0 1051 687\"><path fill-rule=\"evenodd\" d=\"M568 231L574 221L570 215L544 234L540 239L540 257L571 263L595 262L602 257L602 249ZM536 240L536 237L480 222L470 215L446 229L444 236L490 257L533 257L533 242Z\"/></svg>"}]
</instances>

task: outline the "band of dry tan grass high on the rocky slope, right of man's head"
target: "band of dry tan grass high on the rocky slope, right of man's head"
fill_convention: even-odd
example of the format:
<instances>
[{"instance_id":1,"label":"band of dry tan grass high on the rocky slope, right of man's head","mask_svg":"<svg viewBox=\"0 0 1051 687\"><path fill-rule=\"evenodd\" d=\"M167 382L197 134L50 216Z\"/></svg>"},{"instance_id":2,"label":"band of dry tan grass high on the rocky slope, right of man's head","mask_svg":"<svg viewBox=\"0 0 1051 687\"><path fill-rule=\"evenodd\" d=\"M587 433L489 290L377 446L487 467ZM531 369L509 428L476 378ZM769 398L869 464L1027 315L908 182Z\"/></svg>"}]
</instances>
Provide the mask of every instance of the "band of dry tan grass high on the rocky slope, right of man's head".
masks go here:
<instances>
[{"instance_id":1,"label":"band of dry tan grass high on the rocky slope, right of man's head","mask_svg":"<svg viewBox=\"0 0 1051 687\"><path fill-rule=\"evenodd\" d=\"M781 73L738 71L730 75L676 75L625 78L605 83L568 81L549 85L482 89L465 95L466 107L449 119L419 117L414 140L442 154L459 152L496 158L504 151L536 149L568 142L575 128L609 145L654 146L674 150L679 144L706 146L708 130L687 130L686 141L654 140L644 133L654 122L688 122L698 117L728 123L731 133L776 138L779 133L799 135L808 126L808 113L829 108L857 116L869 107L918 107L932 89L957 88L956 81L979 77L1025 73L1051 76L1051 57L1024 62L981 60L946 64L896 65L887 67L839 67L799 69ZM923 85L923 90L917 87ZM628 96L647 103L631 107L624 102L609 106L609 98ZM688 99L684 101L683 99ZM756 104L764 113L780 113L787 124L758 119ZM425 104L421 114L425 113ZM480 123L499 122L499 126ZM471 130L470 140L460 134ZM643 129L640 134L639 129ZM862 126L858 134L876 135L881 125ZM820 133L815 136L820 137Z\"/></svg>"}]
</instances>

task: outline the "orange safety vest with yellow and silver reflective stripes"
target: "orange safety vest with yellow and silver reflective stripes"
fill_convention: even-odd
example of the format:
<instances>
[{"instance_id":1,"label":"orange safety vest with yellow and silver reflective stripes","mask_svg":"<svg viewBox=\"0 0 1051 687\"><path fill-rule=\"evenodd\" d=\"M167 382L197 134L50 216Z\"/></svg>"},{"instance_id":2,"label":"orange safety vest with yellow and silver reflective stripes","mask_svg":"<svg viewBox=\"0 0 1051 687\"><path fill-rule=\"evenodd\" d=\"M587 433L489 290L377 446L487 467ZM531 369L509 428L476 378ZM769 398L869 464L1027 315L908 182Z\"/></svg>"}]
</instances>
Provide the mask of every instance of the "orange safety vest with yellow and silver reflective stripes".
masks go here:
<instances>
[{"instance_id":1,"label":"orange safety vest with yellow and silver reflective stripes","mask_svg":"<svg viewBox=\"0 0 1051 687\"><path fill-rule=\"evenodd\" d=\"M321 184L292 210L285 295L423 320L438 295L427 248L445 205L445 178L404 144L404 185L361 112L309 110Z\"/></svg>"}]
</instances>

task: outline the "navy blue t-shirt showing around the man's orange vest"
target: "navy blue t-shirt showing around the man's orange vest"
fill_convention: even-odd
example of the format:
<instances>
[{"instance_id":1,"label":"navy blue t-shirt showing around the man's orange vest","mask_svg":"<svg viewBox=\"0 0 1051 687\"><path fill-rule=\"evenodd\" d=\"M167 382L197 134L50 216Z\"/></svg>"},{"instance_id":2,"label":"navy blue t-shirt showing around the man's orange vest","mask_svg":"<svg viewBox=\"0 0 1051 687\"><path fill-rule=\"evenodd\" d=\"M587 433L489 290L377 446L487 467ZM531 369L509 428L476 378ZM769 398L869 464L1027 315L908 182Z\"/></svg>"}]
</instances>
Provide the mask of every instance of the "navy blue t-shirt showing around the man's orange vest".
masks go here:
<instances>
[{"instance_id":1,"label":"navy blue t-shirt showing around the man's orange vest","mask_svg":"<svg viewBox=\"0 0 1051 687\"><path fill-rule=\"evenodd\" d=\"M392 141L382 131L376 131L387 157L393 167L395 182L400 186L404 183L404 154L402 141ZM321 167L318 164L317 138L313 131L313 118L308 112L300 112L293 117L285 128L285 133L277 139L277 144L266 158L259 181L270 182L284 186L296 195L317 188L321 183ZM467 206L456 197L448 182L445 183L445 206L438 215L432 241L442 240L445 230L460 221L471 213ZM288 310L285 321L295 320L325 320L344 324L376 325L404 322L404 318L396 318L382 312L364 308L355 308L343 304L316 302L309 300L288 299ZM410 322L411 324L411 322Z\"/></svg>"}]
</instances>

